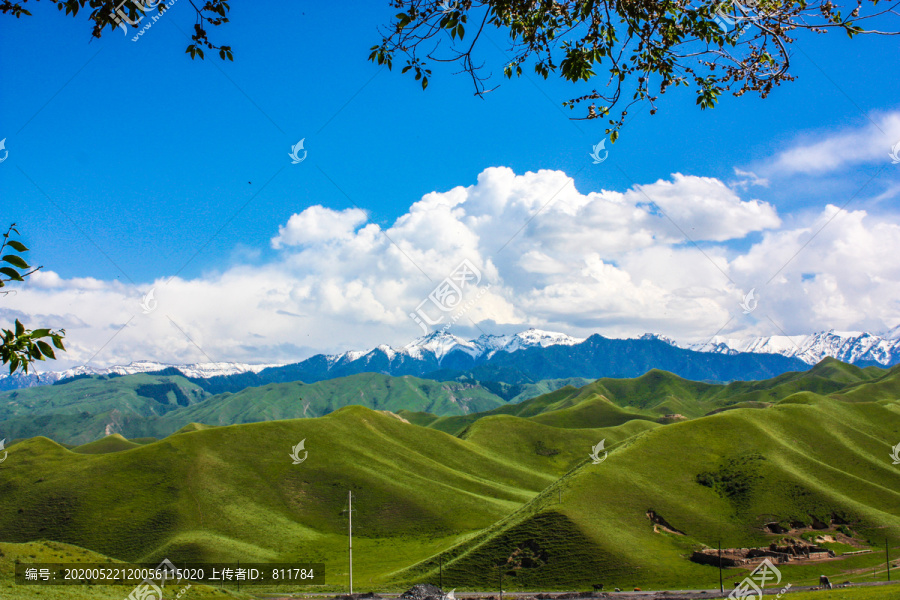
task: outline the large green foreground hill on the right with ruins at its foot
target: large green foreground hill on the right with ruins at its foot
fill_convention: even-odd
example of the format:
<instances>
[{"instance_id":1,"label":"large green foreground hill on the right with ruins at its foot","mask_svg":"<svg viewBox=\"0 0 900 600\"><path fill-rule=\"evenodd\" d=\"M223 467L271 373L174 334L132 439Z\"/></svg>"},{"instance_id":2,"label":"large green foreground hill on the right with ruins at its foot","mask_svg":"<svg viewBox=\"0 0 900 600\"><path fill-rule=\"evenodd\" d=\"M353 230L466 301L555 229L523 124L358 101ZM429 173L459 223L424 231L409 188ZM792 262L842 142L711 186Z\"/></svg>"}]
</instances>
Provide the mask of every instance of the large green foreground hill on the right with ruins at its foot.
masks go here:
<instances>
[{"instance_id":1,"label":"large green foreground hill on the right with ruins at its foot","mask_svg":"<svg viewBox=\"0 0 900 600\"><path fill-rule=\"evenodd\" d=\"M538 582L710 588L717 571L689 562L692 550L719 540L767 545L779 537L767 533L769 522L836 519L863 543L897 540L900 469L888 456L892 440L900 440L897 412L808 392L765 410L656 427L612 445L601 464L585 457L524 508L443 551L444 581L487 586L502 572L511 589ZM650 511L682 533L654 531ZM873 556L783 571L788 581L811 584L820 570L869 566L878 562ZM430 579L437 565L433 556L394 577Z\"/></svg>"}]
</instances>

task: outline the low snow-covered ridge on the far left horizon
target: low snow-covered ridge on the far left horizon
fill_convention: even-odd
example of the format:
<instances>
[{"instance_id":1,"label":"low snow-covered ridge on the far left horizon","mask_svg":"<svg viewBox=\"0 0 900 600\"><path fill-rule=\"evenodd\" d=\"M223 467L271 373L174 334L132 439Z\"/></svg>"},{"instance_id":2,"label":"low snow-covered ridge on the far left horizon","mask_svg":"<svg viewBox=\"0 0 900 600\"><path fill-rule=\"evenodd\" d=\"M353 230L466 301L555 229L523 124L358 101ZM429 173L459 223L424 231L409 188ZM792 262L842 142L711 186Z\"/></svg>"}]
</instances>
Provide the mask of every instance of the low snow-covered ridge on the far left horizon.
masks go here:
<instances>
[{"instance_id":1,"label":"low snow-covered ridge on the far left horizon","mask_svg":"<svg viewBox=\"0 0 900 600\"><path fill-rule=\"evenodd\" d=\"M259 373L267 367L279 365L248 365L244 363L194 363L190 365L170 365L149 360L138 360L127 365L115 365L112 367L73 367L65 371L47 371L43 373L16 373L14 375L0 374L0 390L11 390L36 385L50 385L62 379L69 379L79 375L133 375L135 373L151 373L161 371L169 367L175 367L188 377L208 379L218 375L236 375L238 373Z\"/></svg>"}]
</instances>

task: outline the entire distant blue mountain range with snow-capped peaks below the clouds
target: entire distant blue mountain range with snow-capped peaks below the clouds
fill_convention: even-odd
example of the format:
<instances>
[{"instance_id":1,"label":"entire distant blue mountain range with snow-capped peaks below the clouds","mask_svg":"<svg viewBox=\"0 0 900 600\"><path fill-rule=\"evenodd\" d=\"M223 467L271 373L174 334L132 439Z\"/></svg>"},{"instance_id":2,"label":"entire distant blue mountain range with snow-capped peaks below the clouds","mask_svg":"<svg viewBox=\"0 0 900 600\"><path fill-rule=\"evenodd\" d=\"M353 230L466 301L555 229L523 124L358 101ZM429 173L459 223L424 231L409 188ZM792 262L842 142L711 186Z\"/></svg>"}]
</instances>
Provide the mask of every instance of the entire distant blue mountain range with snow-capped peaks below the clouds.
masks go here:
<instances>
[{"instance_id":1,"label":"entire distant blue mountain range with snow-capped peaks below the clouds","mask_svg":"<svg viewBox=\"0 0 900 600\"><path fill-rule=\"evenodd\" d=\"M172 367L189 378L207 380L203 387L211 393L276 382L312 383L363 372L515 384L566 377L637 377L658 368L688 379L732 381L765 379L786 371L806 370L828 356L857 366L898 364L900 327L882 335L831 330L805 336L747 339L717 336L696 344L681 344L655 334L622 340L596 334L575 338L528 329L516 334L482 335L464 340L446 332L435 332L401 348L383 344L368 351L317 354L291 365L168 365L138 361L109 368L76 367L59 372L0 375L0 390L48 385L88 375L126 375Z\"/></svg>"}]
</instances>

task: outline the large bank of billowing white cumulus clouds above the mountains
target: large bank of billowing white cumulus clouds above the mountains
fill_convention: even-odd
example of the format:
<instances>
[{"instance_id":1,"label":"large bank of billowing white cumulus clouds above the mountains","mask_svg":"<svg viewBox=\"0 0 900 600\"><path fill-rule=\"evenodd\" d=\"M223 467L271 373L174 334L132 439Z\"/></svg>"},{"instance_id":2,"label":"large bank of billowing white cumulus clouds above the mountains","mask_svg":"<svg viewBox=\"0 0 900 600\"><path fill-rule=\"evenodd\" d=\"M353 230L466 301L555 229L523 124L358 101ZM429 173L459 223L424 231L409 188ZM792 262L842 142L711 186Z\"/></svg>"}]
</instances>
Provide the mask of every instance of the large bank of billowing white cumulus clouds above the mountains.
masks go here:
<instances>
[{"instance_id":1,"label":"large bank of billowing white cumulus clouds above the mountains","mask_svg":"<svg viewBox=\"0 0 900 600\"><path fill-rule=\"evenodd\" d=\"M898 223L829 205L787 227L746 188L676 173L585 192L561 171L493 167L386 229L359 209L300 210L273 232L278 255L263 266L140 290L39 272L3 299L0 322L66 328L70 351L45 369L289 362L421 335L410 313L463 259L490 287L453 326L461 336L536 326L705 341L900 321ZM144 313L151 288L158 304ZM759 306L744 315L751 288Z\"/></svg>"}]
</instances>

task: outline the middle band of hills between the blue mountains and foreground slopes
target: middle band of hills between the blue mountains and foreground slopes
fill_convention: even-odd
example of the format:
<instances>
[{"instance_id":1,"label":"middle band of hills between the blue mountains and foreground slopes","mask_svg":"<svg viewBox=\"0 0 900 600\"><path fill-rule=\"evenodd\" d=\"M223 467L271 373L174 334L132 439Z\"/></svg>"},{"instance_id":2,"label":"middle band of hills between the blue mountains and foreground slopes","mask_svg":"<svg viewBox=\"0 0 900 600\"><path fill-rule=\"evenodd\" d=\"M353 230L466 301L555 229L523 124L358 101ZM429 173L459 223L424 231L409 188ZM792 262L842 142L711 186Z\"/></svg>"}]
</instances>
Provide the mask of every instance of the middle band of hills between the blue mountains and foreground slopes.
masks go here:
<instances>
[{"instance_id":1,"label":"middle band of hills between the blue mountains and foreground slopes","mask_svg":"<svg viewBox=\"0 0 900 600\"><path fill-rule=\"evenodd\" d=\"M0 433L8 439L44 435L80 445L110 433L160 438L192 422L231 425L314 417L349 405L396 412L412 423L453 434L492 414L534 417L561 427L609 427L631 419L671 422L676 419L666 415L695 418L736 407L761 408L800 391L841 393L851 399L854 394L868 397L871 388L890 396L895 390L881 384L889 373L833 359L809 371L727 385L689 381L655 369L633 379L573 378L534 384L439 382L362 373L312 384L271 383L214 396L180 375L93 376L0 393Z\"/></svg>"}]
</instances>

